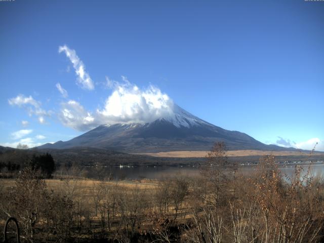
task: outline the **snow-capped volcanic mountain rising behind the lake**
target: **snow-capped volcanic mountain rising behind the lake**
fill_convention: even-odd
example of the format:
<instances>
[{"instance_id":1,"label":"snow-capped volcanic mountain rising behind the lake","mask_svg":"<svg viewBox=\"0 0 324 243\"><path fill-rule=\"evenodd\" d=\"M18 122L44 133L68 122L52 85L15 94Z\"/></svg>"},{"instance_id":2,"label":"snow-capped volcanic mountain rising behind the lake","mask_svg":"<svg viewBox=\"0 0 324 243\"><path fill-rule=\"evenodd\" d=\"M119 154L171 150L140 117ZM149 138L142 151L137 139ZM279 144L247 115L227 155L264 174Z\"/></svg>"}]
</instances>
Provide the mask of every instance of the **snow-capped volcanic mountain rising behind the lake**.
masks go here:
<instances>
[{"instance_id":1,"label":"snow-capped volcanic mountain rising behind the lake","mask_svg":"<svg viewBox=\"0 0 324 243\"><path fill-rule=\"evenodd\" d=\"M222 129L177 105L172 114L150 123L101 125L69 141L47 143L38 148L93 147L128 153L208 151L217 141L225 142L228 150L295 150L266 145L245 133Z\"/></svg>"}]
</instances>

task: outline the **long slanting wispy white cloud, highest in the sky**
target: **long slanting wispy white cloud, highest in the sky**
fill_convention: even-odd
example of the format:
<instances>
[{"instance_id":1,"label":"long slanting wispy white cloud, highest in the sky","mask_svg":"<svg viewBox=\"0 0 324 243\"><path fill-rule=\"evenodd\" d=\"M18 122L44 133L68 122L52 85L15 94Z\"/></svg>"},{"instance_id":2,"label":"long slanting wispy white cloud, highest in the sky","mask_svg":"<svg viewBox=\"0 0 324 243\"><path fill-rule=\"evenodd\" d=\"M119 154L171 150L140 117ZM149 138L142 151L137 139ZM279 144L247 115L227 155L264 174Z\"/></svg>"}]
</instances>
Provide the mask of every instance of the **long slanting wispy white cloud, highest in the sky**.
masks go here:
<instances>
[{"instance_id":1,"label":"long slanting wispy white cloud, highest in the sky","mask_svg":"<svg viewBox=\"0 0 324 243\"><path fill-rule=\"evenodd\" d=\"M75 50L69 49L66 45L59 47L59 53L64 52L66 57L68 57L73 64L75 74L77 75L76 83L81 88L86 90L93 90L95 88L93 81L86 71L85 64L76 55Z\"/></svg>"}]
</instances>

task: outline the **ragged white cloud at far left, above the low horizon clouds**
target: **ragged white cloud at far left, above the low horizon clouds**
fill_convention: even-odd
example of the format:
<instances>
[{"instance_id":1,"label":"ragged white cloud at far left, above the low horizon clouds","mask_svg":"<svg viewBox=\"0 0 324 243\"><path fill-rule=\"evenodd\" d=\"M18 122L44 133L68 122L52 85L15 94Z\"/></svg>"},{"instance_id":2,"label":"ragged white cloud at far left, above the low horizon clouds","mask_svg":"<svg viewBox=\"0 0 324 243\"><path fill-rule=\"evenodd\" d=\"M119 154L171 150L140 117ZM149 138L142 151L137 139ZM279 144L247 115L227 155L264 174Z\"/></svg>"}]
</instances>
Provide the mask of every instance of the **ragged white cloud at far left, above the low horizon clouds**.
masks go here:
<instances>
[{"instance_id":1,"label":"ragged white cloud at far left, above the low horizon clouds","mask_svg":"<svg viewBox=\"0 0 324 243\"><path fill-rule=\"evenodd\" d=\"M17 95L17 97L11 98L8 100L9 104L12 106L18 106L24 108L29 116L36 115L38 116L38 121L41 124L45 123L44 116L50 116L51 111L46 111L42 108L42 104L39 101L36 101L32 96L26 97L22 94Z\"/></svg>"}]
</instances>

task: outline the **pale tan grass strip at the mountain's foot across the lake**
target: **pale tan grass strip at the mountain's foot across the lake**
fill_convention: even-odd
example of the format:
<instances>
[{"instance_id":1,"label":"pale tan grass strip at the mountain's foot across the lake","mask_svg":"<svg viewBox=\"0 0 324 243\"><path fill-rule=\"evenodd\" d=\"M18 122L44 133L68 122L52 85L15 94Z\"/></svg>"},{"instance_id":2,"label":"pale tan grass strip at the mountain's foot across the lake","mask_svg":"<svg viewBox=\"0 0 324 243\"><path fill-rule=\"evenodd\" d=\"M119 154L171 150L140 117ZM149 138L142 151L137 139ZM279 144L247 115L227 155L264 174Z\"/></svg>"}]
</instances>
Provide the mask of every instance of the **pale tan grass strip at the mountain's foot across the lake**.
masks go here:
<instances>
[{"instance_id":1,"label":"pale tan grass strip at the mountain's foot across the lake","mask_svg":"<svg viewBox=\"0 0 324 243\"><path fill-rule=\"evenodd\" d=\"M157 153L138 153L143 155L151 155L155 157L178 157L178 158L188 158L188 157L206 157L209 151L169 151L169 152L157 152ZM270 151L270 150L231 150L226 151L226 156L264 156L272 154L273 156L299 156L307 155L307 153L301 151ZM313 155L321 155L322 153L313 153Z\"/></svg>"}]
</instances>

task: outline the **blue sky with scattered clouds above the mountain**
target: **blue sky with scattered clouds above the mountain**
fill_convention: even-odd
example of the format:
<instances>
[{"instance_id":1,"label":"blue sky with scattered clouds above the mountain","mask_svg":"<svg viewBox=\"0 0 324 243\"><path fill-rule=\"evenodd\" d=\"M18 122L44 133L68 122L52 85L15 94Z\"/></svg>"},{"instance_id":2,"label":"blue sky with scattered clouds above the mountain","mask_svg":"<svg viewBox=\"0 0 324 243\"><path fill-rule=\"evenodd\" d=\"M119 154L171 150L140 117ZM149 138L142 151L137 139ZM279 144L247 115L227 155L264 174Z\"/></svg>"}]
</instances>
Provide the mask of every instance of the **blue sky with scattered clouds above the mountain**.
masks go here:
<instances>
[{"instance_id":1,"label":"blue sky with scattered clouds above the mountain","mask_svg":"<svg viewBox=\"0 0 324 243\"><path fill-rule=\"evenodd\" d=\"M127 102L149 96L264 143L324 151L324 2L0 2L0 81L5 146L145 120Z\"/></svg>"}]
</instances>

